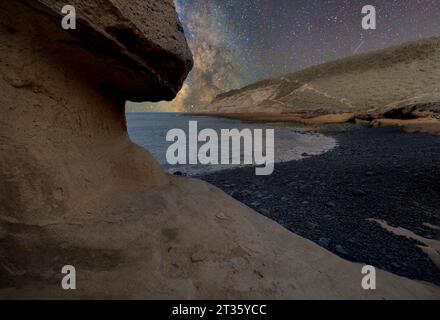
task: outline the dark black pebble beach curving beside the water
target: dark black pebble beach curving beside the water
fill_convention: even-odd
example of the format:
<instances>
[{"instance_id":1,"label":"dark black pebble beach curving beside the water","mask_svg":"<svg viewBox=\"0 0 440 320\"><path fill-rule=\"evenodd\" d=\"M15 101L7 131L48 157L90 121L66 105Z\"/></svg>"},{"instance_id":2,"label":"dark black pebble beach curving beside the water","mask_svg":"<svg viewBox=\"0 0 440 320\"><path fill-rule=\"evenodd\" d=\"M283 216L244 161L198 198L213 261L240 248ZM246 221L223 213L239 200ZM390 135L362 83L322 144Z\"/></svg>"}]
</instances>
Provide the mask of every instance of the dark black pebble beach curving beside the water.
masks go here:
<instances>
[{"instance_id":1,"label":"dark black pebble beach curving beside the water","mask_svg":"<svg viewBox=\"0 0 440 320\"><path fill-rule=\"evenodd\" d=\"M336 149L277 164L271 176L241 168L201 178L347 260L439 285L440 269L422 243L372 219L439 239L440 139L395 127L324 130Z\"/></svg>"}]
</instances>

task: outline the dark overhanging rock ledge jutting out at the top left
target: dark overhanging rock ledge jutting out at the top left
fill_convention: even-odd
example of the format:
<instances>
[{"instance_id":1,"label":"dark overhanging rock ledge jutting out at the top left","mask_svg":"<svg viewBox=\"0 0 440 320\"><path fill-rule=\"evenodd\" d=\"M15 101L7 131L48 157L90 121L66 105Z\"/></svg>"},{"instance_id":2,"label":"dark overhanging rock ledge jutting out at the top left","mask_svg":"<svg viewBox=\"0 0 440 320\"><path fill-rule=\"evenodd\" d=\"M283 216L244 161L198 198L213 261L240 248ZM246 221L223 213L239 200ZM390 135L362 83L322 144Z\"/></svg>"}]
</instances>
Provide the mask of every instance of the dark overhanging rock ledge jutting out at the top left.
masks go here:
<instances>
[{"instance_id":1,"label":"dark overhanging rock ledge jutting out at the top left","mask_svg":"<svg viewBox=\"0 0 440 320\"><path fill-rule=\"evenodd\" d=\"M172 0L70 0L76 29L63 30L60 0L22 0L49 16L75 44L92 53L100 89L119 100L172 100L193 59ZM47 39L56 41L57 39ZM81 65L78 65L81 68Z\"/></svg>"}]
</instances>

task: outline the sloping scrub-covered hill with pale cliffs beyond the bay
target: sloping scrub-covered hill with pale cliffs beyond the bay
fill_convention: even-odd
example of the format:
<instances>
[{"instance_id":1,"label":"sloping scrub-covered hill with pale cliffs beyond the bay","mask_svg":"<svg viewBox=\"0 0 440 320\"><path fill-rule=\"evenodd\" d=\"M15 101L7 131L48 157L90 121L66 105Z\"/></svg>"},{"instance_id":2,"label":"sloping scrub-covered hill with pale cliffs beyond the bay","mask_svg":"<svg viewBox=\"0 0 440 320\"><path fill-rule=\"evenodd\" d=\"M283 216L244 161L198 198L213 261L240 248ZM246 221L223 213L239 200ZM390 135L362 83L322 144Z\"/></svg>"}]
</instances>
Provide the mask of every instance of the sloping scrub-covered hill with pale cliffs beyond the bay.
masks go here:
<instances>
[{"instance_id":1,"label":"sloping scrub-covered hill with pale cliffs beyond the bay","mask_svg":"<svg viewBox=\"0 0 440 320\"><path fill-rule=\"evenodd\" d=\"M437 37L350 56L226 92L212 101L208 111L243 117L253 113L254 118L268 120L316 118L318 122L438 117L439 83Z\"/></svg>"}]
</instances>

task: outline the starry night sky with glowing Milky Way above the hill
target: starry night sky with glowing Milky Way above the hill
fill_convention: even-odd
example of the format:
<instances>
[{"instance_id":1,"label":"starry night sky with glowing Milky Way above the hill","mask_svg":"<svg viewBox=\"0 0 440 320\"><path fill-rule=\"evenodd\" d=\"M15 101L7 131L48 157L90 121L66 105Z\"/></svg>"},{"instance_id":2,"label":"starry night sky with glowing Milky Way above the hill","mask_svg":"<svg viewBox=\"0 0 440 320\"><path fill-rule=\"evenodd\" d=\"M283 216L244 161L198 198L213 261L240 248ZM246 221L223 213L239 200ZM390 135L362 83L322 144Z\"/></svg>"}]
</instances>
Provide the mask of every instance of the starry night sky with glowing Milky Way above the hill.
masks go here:
<instances>
[{"instance_id":1,"label":"starry night sky with glowing Milky Way above the hill","mask_svg":"<svg viewBox=\"0 0 440 320\"><path fill-rule=\"evenodd\" d=\"M440 36L440 0L175 0L195 65L183 110L222 91L329 60ZM377 10L363 30L362 7Z\"/></svg>"}]
</instances>

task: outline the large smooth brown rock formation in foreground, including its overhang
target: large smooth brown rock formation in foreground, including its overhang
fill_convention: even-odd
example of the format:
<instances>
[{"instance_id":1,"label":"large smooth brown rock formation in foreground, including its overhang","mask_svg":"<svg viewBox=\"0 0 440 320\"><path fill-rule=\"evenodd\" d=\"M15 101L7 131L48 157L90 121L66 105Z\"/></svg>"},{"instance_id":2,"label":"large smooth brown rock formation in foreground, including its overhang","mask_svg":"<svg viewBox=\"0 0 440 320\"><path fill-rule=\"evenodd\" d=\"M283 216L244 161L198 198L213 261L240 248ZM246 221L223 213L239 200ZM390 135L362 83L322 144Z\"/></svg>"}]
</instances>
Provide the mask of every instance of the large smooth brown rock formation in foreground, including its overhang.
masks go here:
<instances>
[{"instance_id":1,"label":"large smooth brown rock formation in foreground, including its overhang","mask_svg":"<svg viewBox=\"0 0 440 320\"><path fill-rule=\"evenodd\" d=\"M346 262L207 183L166 175L125 99L171 99L191 67L171 0L0 3L1 298L438 298ZM61 268L77 290L61 288Z\"/></svg>"}]
</instances>

